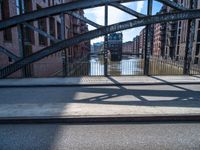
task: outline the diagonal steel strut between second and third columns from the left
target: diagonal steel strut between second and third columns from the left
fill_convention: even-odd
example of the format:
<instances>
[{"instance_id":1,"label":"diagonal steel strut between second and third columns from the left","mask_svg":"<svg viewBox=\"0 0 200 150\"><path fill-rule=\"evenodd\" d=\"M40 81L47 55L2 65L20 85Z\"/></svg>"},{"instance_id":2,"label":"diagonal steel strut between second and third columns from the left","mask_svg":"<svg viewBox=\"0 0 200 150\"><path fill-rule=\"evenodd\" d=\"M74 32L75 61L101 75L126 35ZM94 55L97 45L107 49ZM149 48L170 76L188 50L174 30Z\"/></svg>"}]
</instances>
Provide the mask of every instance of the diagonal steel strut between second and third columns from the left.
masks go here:
<instances>
[{"instance_id":1,"label":"diagonal steel strut between second and third columns from the left","mask_svg":"<svg viewBox=\"0 0 200 150\"><path fill-rule=\"evenodd\" d=\"M88 23L89 25L91 25L91 26L93 26L95 28L102 27L101 25L99 25L99 24L87 19L86 17L83 17L83 16L79 15L78 13L69 11L69 12L67 12L67 14L69 14L69 15L71 15L71 16L73 16L73 17L75 17L75 18L77 18L77 19L79 19L79 20L81 20L83 22L86 22L86 23Z\"/></svg>"}]
</instances>

